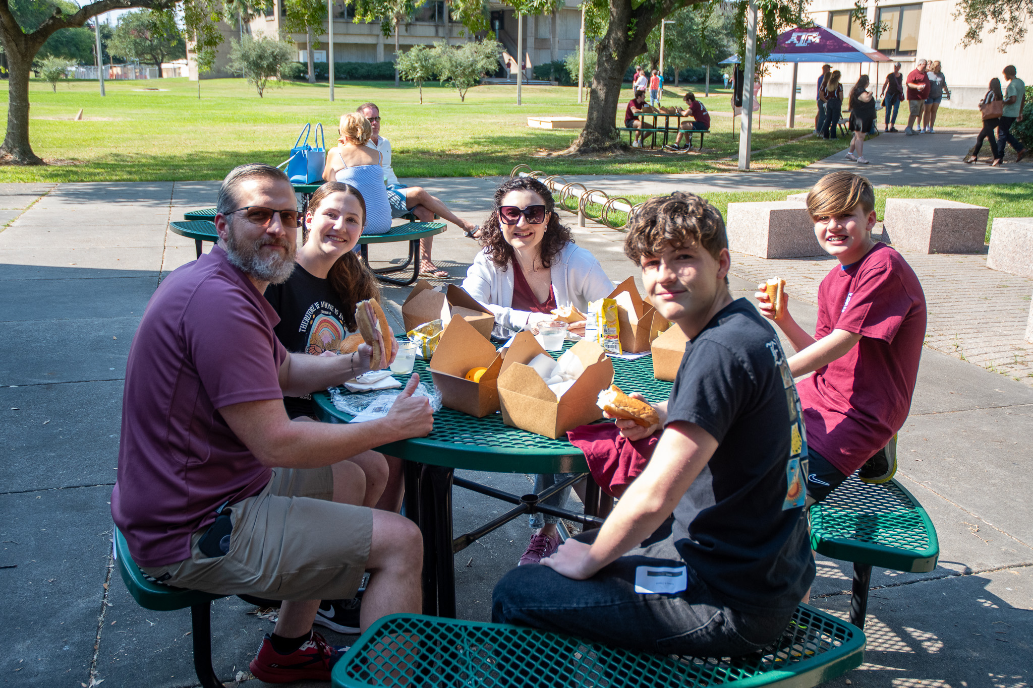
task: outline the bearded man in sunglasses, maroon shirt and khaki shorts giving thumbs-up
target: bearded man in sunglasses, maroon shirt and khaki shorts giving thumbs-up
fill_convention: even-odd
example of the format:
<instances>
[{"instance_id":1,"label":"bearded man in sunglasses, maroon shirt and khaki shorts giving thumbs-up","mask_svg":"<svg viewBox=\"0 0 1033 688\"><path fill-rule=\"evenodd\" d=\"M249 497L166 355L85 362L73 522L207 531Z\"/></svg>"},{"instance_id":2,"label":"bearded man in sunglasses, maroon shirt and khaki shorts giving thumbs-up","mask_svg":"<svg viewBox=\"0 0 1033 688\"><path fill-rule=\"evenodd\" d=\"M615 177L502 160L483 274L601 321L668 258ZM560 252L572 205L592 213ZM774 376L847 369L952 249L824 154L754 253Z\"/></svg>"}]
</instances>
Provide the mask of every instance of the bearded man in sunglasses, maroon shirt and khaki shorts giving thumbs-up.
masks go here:
<instances>
[{"instance_id":1,"label":"bearded man in sunglasses, maroon shirt and khaki shorts giving thumbs-up","mask_svg":"<svg viewBox=\"0 0 1033 688\"><path fill-rule=\"evenodd\" d=\"M255 677L328 681L343 649L312 631L320 600L354 597L370 571L362 630L421 609L419 530L357 504L385 483L372 448L426 435L433 415L412 396L413 375L386 418L291 422L285 394L365 372L369 347L289 354L273 331L279 317L262 292L293 270L300 224L283 172L242 165L217 205L219 242L161 283L133 338L112 517L160 583L284 600Z\"/></svg>"}]
</instances>

